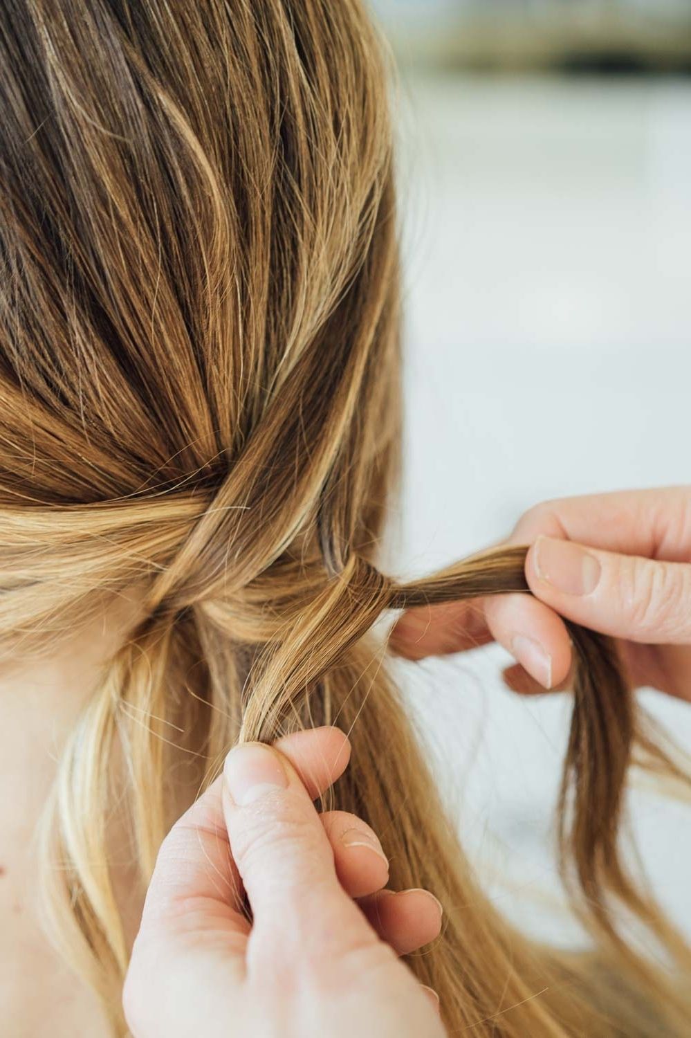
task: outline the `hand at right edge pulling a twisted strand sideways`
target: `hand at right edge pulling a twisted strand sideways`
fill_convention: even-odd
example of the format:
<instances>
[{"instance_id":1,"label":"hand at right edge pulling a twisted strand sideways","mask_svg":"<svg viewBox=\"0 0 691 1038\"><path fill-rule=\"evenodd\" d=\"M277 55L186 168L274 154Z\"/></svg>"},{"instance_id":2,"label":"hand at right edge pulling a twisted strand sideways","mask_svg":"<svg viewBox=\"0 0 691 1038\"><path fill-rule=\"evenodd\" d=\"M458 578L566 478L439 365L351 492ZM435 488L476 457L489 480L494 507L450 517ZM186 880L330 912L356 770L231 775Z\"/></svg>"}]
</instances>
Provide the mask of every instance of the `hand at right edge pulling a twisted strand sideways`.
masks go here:
<instances>
[{"instance_id":1,"label":"hand at right edge pulling a twisted strand sideways","mask_svg":"<svg viewBox=\"0 0 691 1038\"><path fill-rule=\"evenodd\" d=\"M392 648L420 659L494 639L519 661L504 671L506 684L544 692L570 684L566 617L617 639L633 687L691 700L691 488L547 501L505 543L531 545L525 574L534 597L411 609Z\"/></svg>"}]
</instances>

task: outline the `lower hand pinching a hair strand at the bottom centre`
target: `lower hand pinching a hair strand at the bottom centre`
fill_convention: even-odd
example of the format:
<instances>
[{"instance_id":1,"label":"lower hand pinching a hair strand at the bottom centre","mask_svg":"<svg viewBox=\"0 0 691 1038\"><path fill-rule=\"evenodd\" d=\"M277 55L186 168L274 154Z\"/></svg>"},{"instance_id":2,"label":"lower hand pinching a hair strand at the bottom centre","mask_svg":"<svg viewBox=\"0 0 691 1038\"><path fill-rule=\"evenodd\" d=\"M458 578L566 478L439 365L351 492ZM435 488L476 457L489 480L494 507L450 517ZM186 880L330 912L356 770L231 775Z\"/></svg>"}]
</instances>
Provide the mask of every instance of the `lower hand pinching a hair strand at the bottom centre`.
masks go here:
<instances>
[{"instance_id":1,"label":"lower hand pinching a hair strand at the bottom centre","mask_svg":"<svg viewBox=\"0 0 691 1038\"><path fill-rule=\"evenodd\" d=\"M125 984L134 1038L443 1038L397 958L438 935L438 902L382 890L369 826L312 803L349 757L335 728L237 746L173 825Z\"/></svg>"}]
</instances>

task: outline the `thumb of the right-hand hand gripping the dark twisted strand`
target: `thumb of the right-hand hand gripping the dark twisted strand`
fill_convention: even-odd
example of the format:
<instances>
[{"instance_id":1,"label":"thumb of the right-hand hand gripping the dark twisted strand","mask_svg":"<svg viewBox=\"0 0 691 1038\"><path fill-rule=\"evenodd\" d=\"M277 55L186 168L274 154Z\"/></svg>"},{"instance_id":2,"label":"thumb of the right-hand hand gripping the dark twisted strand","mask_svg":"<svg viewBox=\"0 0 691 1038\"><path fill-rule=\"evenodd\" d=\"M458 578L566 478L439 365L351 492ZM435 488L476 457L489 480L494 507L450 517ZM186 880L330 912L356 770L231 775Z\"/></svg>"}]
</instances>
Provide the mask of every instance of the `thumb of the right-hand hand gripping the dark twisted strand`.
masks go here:
<instances>
[{"instance_id":1,"label":"thumb of the right-hand hand gripping the dark twisted strand","mask_svg":"<svg viewBox=\"0 0 691 1038\"><path fill-rule=\"evenodd\" d=\"M561 616L614 637L691 641L691 566L537 538L525 574L536 598Z\"/></svg>"}]
</instances>

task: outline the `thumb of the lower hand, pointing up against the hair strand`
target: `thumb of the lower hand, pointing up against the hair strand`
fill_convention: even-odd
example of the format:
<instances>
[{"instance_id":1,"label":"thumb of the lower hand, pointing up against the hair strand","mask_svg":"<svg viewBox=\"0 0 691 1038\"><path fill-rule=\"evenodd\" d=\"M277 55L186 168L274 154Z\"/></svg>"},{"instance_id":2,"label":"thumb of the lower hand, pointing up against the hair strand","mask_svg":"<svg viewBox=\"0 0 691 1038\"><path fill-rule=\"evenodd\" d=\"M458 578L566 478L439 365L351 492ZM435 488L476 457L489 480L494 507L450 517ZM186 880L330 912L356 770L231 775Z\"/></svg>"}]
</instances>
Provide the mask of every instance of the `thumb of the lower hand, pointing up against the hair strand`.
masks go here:
<instances>
[{"instance_id":1,"label":"thumb of the lower hand, pointing up against the hair strand","mask_svg":"<svg viewBox=\"0 0 691 1038\"><path fill-rule=\"evenodd\" d=\"M282 754L259 742L234 746L222 802L255 944L269 939L282 954L294 944L304 960L377 943L340 885L316 809Z\"/></svg>"}]
</instances>

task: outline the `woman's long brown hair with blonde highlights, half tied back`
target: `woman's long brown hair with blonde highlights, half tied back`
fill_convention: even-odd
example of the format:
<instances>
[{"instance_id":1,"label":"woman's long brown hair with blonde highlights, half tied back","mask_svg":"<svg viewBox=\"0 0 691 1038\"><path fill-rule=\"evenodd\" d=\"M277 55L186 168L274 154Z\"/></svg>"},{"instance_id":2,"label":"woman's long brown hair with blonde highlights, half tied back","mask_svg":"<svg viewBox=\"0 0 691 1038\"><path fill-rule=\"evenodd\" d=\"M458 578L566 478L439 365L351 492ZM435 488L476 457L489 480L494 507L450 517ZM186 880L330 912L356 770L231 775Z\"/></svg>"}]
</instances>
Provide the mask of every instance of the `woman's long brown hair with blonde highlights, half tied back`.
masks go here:
<instances>
[{"instance_id":1,"label":"woman's long brown hair with blonde highlights, half tied back","mask_svg":"<svg viewBox=\"0 0 691 1038\"><path fill-rule=\"evenodd\" d=\"M331 805L445 905L408 961L449 1033L682 1036L689 951L617 828L634 757L685 775L612 645L570 629L559 834L592 948L565 954L482 893L368 633L527 590L521 548L413 583L376 566L399 433L387 80L360 0L0 7L0 640L47 651L141 602L59 761L53 923L125 1034L115 809L141 894L185 768L203 788L238 739L338 725Z\"/></svg>"}]
</instances>

